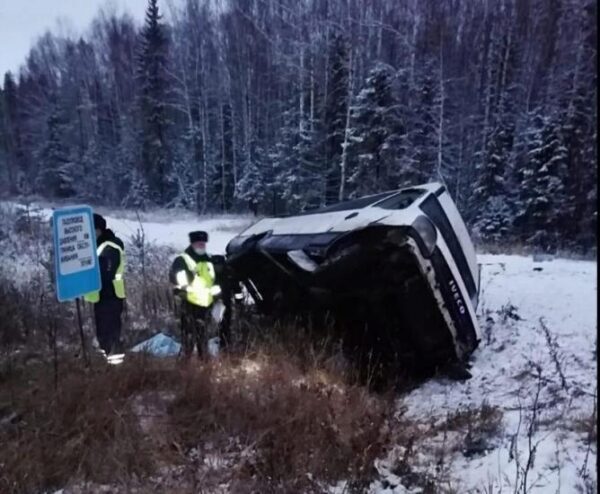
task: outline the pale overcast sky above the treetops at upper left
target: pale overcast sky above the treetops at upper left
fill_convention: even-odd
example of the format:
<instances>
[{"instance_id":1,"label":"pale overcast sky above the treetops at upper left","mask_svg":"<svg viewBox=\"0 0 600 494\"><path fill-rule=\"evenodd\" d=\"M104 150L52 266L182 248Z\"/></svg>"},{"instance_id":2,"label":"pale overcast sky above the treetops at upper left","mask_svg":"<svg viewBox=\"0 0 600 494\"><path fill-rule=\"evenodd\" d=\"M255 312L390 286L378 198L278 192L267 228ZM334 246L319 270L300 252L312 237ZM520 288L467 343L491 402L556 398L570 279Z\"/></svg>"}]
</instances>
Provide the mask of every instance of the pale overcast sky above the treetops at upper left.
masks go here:
<instances>
[{"instance_id":1,"label":"pale overcast sky above the treetops at upper left","mask_svg":"<svg viewBox=\"0 0 600 494\"><path fill-rule=\"evenodd\" d=\"M138 22L147 0L0 0L0 83L8 70L16 73L38 36L64 26L85 32L98 9L114 5ZM166 8L166 2L164 7Z\"/></svg>"}]
</instances>

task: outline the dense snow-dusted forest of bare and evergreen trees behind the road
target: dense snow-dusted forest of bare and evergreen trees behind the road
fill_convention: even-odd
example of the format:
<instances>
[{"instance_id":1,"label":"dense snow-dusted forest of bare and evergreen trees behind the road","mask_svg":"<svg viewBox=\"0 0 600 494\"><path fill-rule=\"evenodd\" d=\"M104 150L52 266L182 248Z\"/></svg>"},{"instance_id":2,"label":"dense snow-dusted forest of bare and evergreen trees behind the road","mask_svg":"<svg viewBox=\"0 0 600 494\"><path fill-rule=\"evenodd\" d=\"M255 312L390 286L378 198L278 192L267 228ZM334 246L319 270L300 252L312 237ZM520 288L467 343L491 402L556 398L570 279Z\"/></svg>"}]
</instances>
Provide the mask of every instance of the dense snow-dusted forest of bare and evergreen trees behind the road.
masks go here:
<instances>
[{"instance_id":1,"label":"dense snow-dusted forest of bare and evergreen trees behind the road","mask_svg":"<svg viewBox=\"0 0 600 494\"><path fill-rule=\"evenodd\" d=\"M138 28L101 11L4 77L1 186L281 214L438 180L483 239L589 247L596 13L594 0L149 0Z\"/></svg>"}]
</instances>

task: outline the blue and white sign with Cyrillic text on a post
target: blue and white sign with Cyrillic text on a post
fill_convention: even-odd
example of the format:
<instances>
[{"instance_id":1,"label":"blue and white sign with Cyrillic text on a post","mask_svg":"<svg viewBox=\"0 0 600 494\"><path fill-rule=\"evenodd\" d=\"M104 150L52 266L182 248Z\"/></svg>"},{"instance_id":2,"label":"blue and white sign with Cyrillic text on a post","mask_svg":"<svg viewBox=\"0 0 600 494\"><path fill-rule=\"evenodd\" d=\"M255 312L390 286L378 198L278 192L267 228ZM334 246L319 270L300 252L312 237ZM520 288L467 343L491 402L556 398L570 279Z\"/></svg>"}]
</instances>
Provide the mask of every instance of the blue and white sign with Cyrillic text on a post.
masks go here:
<instances>
[{"instance_id":1,"label":"blue and white sign with Cyrillic text on a post","mask_svg":"<svg viewBox=\"0 0 600 494\"><path fill-rule=\"evenodd\" d=\"M56 295L60 302L100 290L92 208L73 206L52 214Z\"/></svg>"}]
</instances>

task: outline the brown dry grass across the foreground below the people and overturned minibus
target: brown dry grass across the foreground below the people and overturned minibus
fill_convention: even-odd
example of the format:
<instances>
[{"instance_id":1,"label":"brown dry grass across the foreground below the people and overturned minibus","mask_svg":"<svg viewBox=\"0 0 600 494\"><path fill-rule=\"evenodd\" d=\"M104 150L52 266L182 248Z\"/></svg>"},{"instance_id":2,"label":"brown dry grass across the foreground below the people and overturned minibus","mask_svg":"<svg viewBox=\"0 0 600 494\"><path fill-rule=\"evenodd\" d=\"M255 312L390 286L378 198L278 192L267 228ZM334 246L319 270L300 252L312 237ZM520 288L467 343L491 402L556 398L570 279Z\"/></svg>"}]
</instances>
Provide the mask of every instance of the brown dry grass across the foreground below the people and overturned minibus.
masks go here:
<instances>
[{"instance_id":1,"label":"brown dry grass across the foreground below the people and overturned minibus","mask_svg":"<svg viewBox=\"0 0 600 494\"><path fill-rule=\"evenodd\" d=\"M61 357L57 389L41 363L0 384L0 492L84 481L144 492L165 465L185 467L192 492L211 481L192 452L229 458L212 480L231 492L311 492L317 481L368 482L387 444L390 397L280 356L98 364ZM148 396L163 400L164 416L151 416L160 407Z\"/></svg>"}]
</instances>

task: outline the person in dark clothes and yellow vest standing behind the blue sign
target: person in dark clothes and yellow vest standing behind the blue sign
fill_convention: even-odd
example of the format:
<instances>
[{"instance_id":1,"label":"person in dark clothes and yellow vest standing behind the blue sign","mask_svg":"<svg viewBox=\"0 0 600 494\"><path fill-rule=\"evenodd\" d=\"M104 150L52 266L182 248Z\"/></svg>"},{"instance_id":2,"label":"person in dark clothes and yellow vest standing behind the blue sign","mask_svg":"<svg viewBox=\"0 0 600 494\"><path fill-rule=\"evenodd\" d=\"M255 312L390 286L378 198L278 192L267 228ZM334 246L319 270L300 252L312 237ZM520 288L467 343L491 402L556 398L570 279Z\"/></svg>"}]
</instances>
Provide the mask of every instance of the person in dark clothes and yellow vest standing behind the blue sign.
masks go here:
<instances>
[{"instance_id":1,"label":"person in dark clothes and yellow vest standing behind the blue sign","mask_svg":"<svg viewBox=\"0 0 600 494\"><path fill-rule=\"evenodd\" d=\"M86 302L94 304L96 338L100 349L108 356L121 350L121 315L125 300L125 246L123 241L106 227L106 220L99 214L94 214L94 228L101 288L83 298Z\"/></svg>"}]
</instances>

